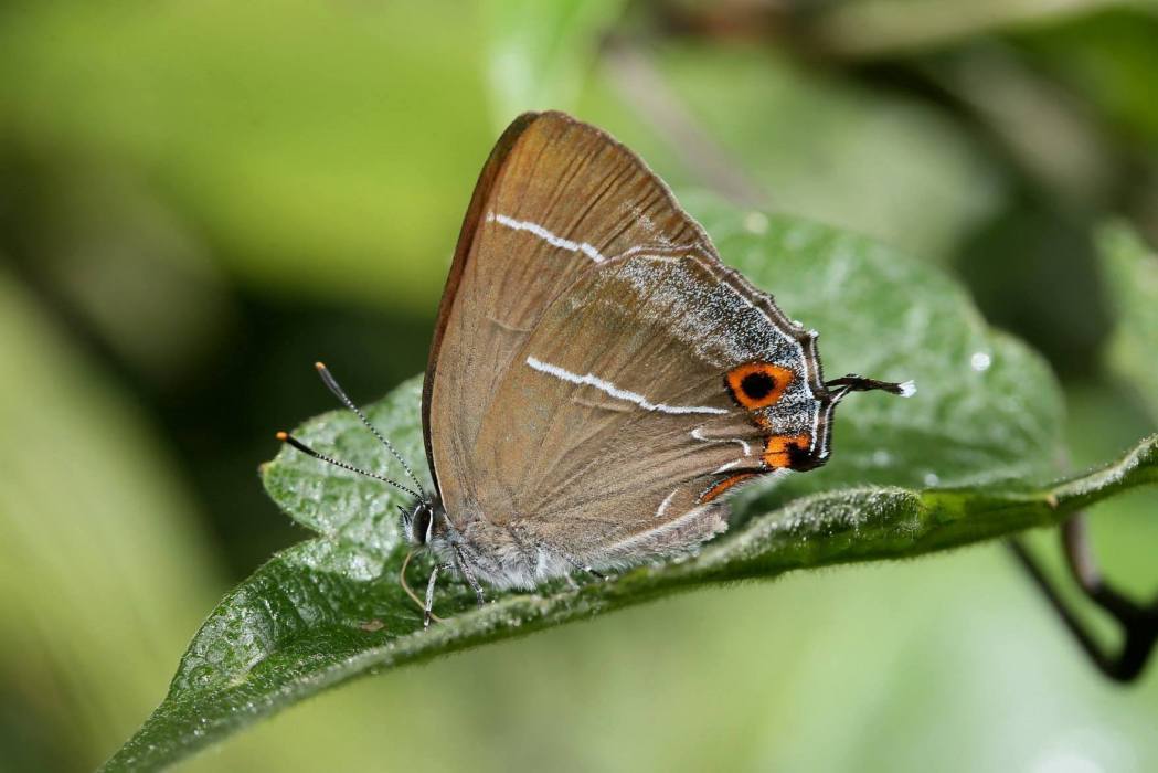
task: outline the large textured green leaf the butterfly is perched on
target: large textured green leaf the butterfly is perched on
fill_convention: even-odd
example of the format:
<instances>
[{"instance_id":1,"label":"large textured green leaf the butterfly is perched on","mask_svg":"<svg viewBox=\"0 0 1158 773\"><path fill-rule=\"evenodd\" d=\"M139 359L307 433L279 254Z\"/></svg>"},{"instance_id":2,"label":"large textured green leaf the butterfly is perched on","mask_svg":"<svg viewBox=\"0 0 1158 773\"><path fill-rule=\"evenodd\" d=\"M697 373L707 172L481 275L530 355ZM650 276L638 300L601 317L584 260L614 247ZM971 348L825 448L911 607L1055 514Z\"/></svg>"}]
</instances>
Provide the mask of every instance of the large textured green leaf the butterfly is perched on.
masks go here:
<instances>
[{"instance_id":1,"label":"large textured green leaf the butterfly is perched on","mask_svg":"<svg viewBox=\"0 0 1158 773\"><path fill-rule=\"evenodd\" d=\"M1036 356L987 330L950 280L821 226L727 212L710 202L696 209L732 262L776 290L790 314L824 330L830 367L915 377L917 395L857 395L842 406L831 466L743 497L731 532L696 557L578 590L559 582L535 593L491 592L483 610L474 608L464 585L444 582L435 611L448 621L427 632L397 582L406 547L396 505L405 497L284 449L264 468L266 489L318 535L278 554L222 599L182 658L164 702L107 767L171 763L365 673L679 590L992 539L1057 523L1158 475L1158 440L1151 439L1119 464L1065 483L1010 480L1051 469L1057 388ZM988 367L974 366L977 352L988 353ZM368 408L415 461L423 459L419 385L416 378ZM401 476L347 413L320 416L299 433L351 464ZM955 488L922 490L930 473ZM799 496L818 487L828 490ZM417 557L409 582L420 585L430 567Z\"/></svg>"}]
</instances>

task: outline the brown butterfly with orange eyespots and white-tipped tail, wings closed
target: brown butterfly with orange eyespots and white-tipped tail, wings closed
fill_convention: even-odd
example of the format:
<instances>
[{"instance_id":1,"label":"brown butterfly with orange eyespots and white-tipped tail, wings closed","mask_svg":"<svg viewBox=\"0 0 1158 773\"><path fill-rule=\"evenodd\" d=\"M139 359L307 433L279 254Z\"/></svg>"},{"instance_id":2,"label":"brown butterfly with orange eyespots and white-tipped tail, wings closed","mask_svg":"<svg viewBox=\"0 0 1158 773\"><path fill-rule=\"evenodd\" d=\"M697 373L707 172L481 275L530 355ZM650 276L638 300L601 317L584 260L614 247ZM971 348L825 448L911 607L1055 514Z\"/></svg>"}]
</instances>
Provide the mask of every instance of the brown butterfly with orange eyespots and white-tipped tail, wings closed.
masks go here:
<instances>
[{"instance_id":1,"label":"brown butterfly with orange eyespots and white-tipped tail, wings closed","mask_svg":"<svg viewBox=\"0 0 1158 773\"><path fill-rule=\"evenodd\" d=\"M425 623L444 570L482 604L484 585L695 549L727 528L725 494L823 465L836 406L872 389L913 386L826 381L816 333L725 267L636 154L562 112L520 116L483 167L439 307L432 493L379 436L417 488L389 481L416 499L403 530L438 557Z\"/></svg>"}]
</instances>

